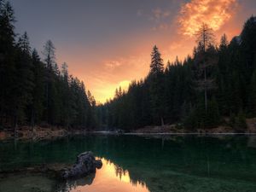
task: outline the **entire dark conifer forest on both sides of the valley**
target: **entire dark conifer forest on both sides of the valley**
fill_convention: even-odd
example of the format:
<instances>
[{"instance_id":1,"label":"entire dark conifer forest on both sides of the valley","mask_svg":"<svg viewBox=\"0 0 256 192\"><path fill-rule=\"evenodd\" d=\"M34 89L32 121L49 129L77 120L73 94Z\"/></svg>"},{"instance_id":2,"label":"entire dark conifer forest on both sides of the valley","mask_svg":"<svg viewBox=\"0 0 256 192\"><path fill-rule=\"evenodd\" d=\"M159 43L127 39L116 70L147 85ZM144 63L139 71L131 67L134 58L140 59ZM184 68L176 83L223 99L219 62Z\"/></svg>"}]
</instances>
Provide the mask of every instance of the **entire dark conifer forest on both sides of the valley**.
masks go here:
<instances>
[{"instance_id":1,"label":"entire dark conifer forest on both sides of the valley","mask_svg":"<svg viewBox=\"0 0 256 192\"><path fill-rule=\"evenodd\" d=\"M188 130L230 125L246 129L256 116L256 18L241 34L217 43L202 24L193 55L163 62L154 46L146 78L96 105L84 83L59 67L55 45L44 44L42 58L26 32L15 32L15 12L0 0L0 129L20 125L55 125L84 130L135 130L148 125ZM149 55L149 53L148 53ZM86 74L85 74L86 75Z\"/></svg>"}]
</instances>

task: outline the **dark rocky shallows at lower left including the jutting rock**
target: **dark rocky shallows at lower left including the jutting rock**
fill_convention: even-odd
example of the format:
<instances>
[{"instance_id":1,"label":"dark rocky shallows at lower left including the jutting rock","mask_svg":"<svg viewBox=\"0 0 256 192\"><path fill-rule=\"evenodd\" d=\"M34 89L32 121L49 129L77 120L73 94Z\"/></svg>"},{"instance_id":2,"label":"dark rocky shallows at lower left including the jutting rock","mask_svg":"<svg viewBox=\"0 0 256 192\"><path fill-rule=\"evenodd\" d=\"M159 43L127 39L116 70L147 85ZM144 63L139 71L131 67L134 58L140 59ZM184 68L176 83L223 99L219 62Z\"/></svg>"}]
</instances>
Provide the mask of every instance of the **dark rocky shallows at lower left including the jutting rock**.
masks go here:
<instances>
[{"instance_id":1,"label":"dark rocky shallows at lower left including the jutting rock","mask_svg":"<svg viewBox=\"0 0 256 192\"><path fill-rule=\"evenodd\" d=\"M72 186L84 186L93 183L96 169L100 168L102 168L102 160L96 160L89 151L79 154L73 165L58 163L12 170L0 169L0 191L67 191ZM15 185L13 184L14 181Z\"/></svg>"}]
</instances>

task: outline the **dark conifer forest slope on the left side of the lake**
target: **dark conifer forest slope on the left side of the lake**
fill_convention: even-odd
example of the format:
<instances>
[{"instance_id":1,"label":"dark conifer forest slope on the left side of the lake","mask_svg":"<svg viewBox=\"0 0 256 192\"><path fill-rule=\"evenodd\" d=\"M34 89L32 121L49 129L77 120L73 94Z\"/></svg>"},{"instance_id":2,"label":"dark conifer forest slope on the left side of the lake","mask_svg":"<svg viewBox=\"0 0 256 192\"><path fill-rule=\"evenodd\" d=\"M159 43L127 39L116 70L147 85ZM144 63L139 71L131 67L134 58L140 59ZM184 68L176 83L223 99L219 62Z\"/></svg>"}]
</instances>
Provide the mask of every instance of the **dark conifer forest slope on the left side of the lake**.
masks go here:
<instances>
[{"instance_id":1,"label":"dark conifer forest slope on the left side of the lake","mask_svg":"<svg viewBox=\"0 0 256 192\"><path fill-rule=\"evenodd\" d=\"M59 68L55 46L44 45L44 58L30 46L25 32L15 33L15 13L0 0L0 129L20 125L57 125L92 129L96 102L84 83Z\"/></svg>"}]
</instances>

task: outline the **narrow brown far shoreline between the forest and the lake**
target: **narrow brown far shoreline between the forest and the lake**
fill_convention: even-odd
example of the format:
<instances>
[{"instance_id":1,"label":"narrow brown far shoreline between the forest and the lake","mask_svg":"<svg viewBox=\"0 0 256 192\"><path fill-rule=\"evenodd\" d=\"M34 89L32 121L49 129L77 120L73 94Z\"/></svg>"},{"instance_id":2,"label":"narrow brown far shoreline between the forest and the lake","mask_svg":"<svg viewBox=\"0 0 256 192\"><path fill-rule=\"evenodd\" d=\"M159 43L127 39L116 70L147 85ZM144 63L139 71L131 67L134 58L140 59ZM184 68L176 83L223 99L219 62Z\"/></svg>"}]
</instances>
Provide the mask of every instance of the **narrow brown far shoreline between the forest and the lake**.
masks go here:
<instances>
[{"instance_id":1,"label":"narrow brown far shoreline between the forest and the lake","mask_svg":"<svg viewBox=\"0 0 256 192\"><path fill-rule=\"evenodd\" d=\"M247 129L242 131L236 131L230 126L220 125L216 128L209 129L196 129L195 131L188 131L184 128L177 128L176 125L163 125L163 126L146 126L141 129L134 131L91 131L82 129L68 130L67 128L57 127L57 126L35 126L32 129L29 126L20 126L16 135L13 129L0 130L0 141L7 139L51 139L55 137L67 137L73 135L84 135L84 134L105 134L105 135L158 135L158 136L177 136L177 135L206 135L206 136L216 136L216 135L256 135L256 118L247 119Z\"/></svg>"}]
</instances>

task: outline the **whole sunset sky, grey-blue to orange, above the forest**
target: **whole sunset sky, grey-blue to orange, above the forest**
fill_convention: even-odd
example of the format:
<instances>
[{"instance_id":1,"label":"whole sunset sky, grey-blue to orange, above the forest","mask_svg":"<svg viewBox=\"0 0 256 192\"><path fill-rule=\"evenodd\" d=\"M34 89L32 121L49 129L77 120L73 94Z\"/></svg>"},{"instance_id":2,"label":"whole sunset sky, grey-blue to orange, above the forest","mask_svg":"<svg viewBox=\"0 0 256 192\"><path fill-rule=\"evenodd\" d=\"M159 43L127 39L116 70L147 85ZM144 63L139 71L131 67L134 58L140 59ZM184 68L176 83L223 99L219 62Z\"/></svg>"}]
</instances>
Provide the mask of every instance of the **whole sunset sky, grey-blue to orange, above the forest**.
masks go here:
<instances>
[{"instance_id":1,"label":"whole sunset sky, grey-blue to orange, above the forest","mask_svg":"<svg viewBox=\"0 0 256 192\"><path fill-rule=\"evenodd\" d=\"M16 32L27 32L32 47L55 44L59 65L83 80L105 102L149 70L156 44L164 61L180 60L195 46L193 34L206 22L229 39L256 15L255 0L11 0Z\"/></svg>"}]
</instances>

